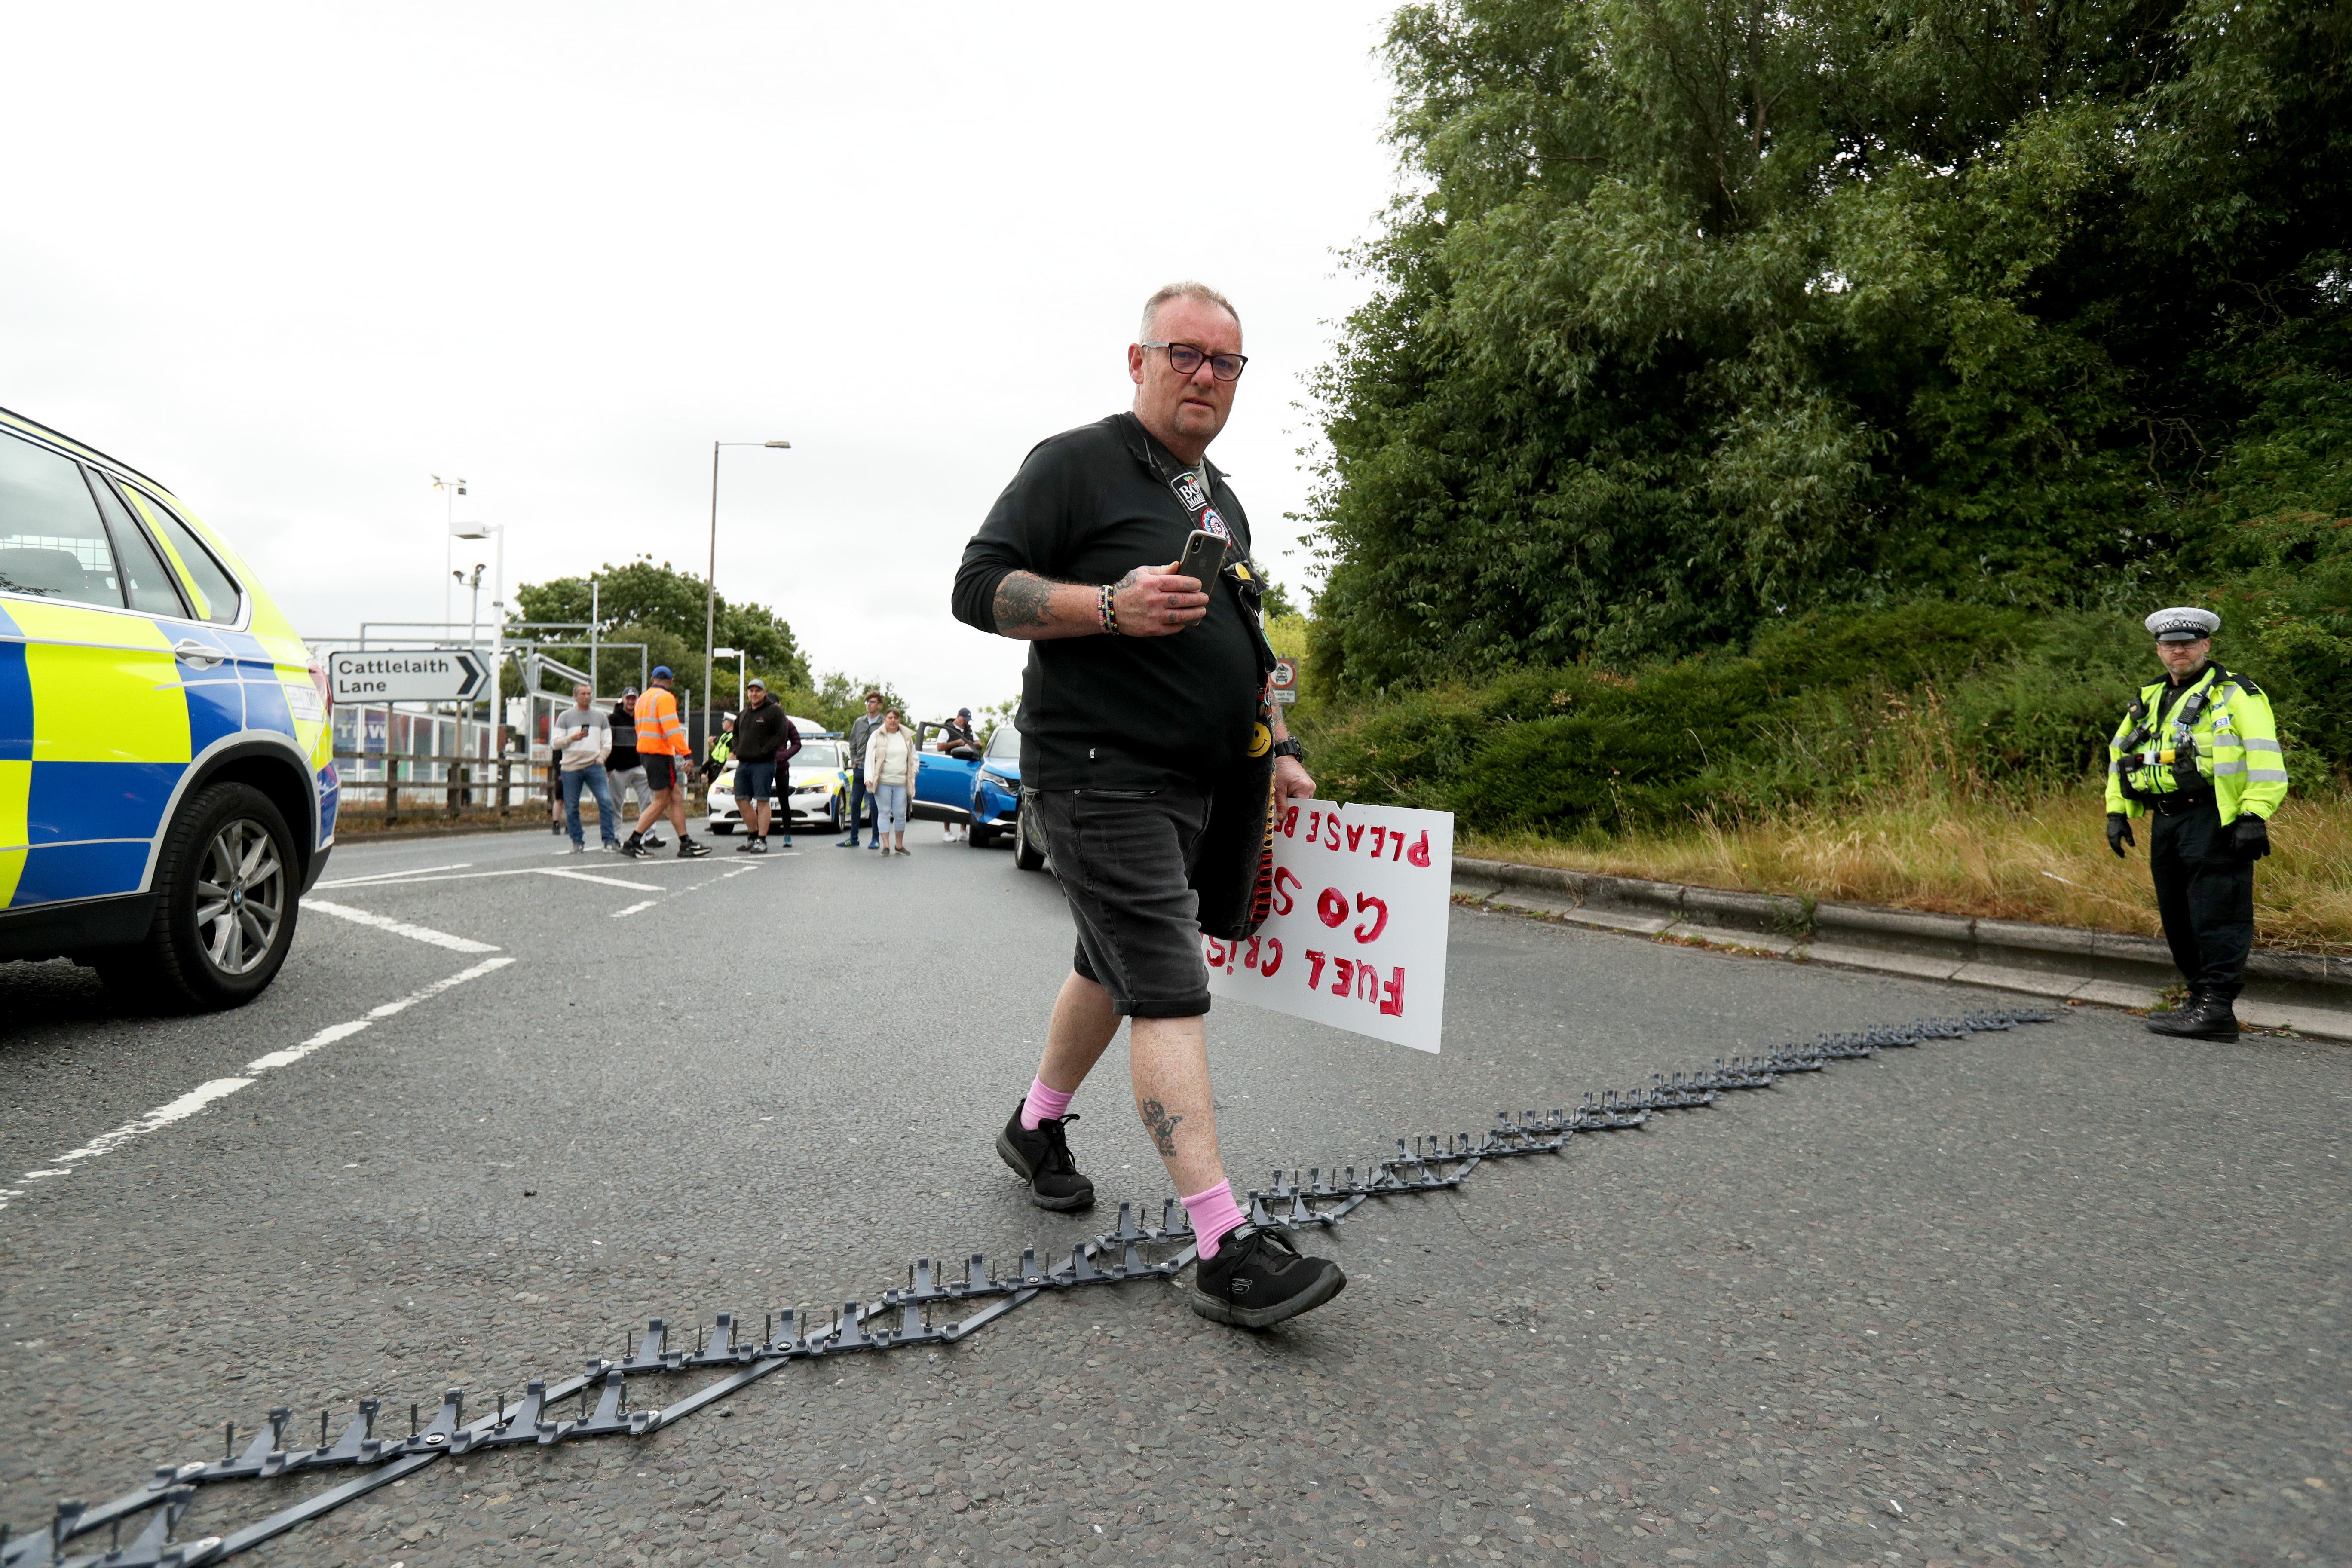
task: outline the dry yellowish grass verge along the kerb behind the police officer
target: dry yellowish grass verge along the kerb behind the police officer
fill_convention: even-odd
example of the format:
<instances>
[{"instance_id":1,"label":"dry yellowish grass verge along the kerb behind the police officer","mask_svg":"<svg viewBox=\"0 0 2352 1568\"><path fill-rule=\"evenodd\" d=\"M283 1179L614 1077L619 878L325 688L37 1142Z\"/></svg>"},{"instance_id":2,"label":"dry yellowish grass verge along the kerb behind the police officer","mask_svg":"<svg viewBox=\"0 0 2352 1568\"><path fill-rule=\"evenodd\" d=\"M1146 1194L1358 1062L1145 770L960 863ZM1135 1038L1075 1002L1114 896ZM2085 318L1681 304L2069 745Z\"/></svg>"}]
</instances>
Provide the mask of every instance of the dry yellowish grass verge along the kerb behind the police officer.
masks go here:
<instances>
[{"instance_id":1,"label":"dry yellowish grass verge along the kerb behind the police officer","mask_svg":"<svg viewBox=\"0 0 2352 1568\"><path fill-rule=\"evenodd\" d=\"M2253 877L2256 940L2352 954L2352 802L2288 797L2270 827L2274 853ZM2161 936L2147 818L2133 832L2129 858L2107 853L2105 806L2089 788L2013 799L1910 790L1882 806L1792 806L1625 837L1468 835L1454 853Z\"/></svg>"}]
</instances>

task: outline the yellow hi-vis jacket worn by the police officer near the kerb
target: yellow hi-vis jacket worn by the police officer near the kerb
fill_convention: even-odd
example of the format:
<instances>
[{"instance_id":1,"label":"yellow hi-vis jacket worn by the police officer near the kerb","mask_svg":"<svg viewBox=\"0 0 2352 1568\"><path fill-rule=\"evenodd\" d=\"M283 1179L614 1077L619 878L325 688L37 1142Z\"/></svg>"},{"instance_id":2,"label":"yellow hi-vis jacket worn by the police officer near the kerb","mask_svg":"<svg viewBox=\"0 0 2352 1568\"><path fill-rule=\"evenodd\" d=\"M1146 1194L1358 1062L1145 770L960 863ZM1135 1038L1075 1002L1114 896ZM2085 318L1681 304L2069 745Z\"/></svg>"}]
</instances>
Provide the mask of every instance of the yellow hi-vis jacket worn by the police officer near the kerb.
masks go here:
<instances>
[{"instance_id":1,"label":"yellow hi-vis jacket worn by the police officer near the kerb","mask_svg":"<svg viewBox=\"0 0 2352 1568\"><path fill-rule=\"evenodd\" d=\"M2270 818L2286 799L2286 752L2270 698L2218 663L2173 691L2140 686L2107 741L2107 811L2140 816L2150 795L2213 790L2223 823L2241 811Z\"/></svg>"}]
</instances>

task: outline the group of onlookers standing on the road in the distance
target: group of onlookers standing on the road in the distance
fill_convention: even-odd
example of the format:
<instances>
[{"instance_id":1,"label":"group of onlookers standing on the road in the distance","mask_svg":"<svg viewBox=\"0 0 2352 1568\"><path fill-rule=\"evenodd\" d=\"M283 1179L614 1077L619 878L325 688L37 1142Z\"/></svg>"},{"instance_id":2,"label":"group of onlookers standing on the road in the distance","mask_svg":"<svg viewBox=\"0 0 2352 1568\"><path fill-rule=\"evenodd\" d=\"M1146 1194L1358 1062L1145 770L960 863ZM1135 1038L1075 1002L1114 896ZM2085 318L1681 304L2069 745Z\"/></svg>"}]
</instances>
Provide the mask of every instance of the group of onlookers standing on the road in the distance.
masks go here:
<instances>
[{"instance_id":1,"label":"group of onlookers standing on the road in the distance","mask_svg":"<svg viewBox=\"0 0 2352 1568\"><path fill-rule=\"evenodd\" d=\"M687 790L696 771L703 780L715 780L731 764L734 797L743 816L739 853L767 853L779 795L781 837L790 849L790 762L802 748L802 733L762 682L746 682L743 698L741 710L720 717L720 733L696 764L687 731L677 722L668 668L654 670L649 691L628 686L609 708L597 708L588 686L574 686L572 708L555 715L548 729L548 745L560 762L548 771L553 832L572 837L572 853L586 853L581 795L588 795L595 799L607 851L644 856L663 849L668 839L661 837L659 823L668 816L677 827L677 856L706 856L710 849L687 832ZM844 811L849 835L840 839L842 849L856 849L870 825L870 849L884 856L908 853L906 823L915 804L920 750L917 731L906 717L896 708L884 708L880 691L868 691L866 712L851 719L842 736L842 766L849 769ZM938 750L962 759L981 755L969 708L957 708L955 717L941 724ZM623 799L637 811L635 830L626 839L619 835ZM957 832L960 823L946 825L950 842Z\"/></svg>"}]
</instances>

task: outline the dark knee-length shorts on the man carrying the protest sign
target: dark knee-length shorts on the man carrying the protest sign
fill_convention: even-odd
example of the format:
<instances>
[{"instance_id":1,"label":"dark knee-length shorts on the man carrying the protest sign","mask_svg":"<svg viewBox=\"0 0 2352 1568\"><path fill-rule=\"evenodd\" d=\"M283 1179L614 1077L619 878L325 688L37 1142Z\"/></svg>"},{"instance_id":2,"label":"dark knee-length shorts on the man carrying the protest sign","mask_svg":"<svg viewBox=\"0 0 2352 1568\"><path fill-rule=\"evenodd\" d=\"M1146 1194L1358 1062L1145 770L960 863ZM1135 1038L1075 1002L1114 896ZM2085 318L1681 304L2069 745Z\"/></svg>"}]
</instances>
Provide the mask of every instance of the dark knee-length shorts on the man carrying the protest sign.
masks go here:
<instances>
[{"instance_id":1,"label":"dark knee-length shorts on the man carrying the protest sign","mask_svg":"<svg viewBox=\"0 0 2352 1568\"><path fill-rule=\"evenodd\" d=\"M1070 900L1070 969L1110 992L1122 1018L1209 1011L1192 858L1209 827L1195 790L1037 790L1023 804Z\"/></svg>"}]
</instances>

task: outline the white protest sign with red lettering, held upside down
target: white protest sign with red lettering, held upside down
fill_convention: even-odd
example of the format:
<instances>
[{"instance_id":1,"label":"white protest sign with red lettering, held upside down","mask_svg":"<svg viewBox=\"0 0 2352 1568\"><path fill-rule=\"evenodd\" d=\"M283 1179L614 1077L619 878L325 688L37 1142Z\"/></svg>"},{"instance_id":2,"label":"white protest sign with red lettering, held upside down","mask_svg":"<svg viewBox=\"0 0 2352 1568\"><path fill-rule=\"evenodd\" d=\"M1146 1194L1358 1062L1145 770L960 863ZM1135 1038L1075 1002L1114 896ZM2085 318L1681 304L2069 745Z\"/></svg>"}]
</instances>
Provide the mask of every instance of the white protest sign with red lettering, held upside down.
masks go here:
<instances>
[{"instance_id":1,"label":"white protest sign with red lettering, held upside down","mask_svg":"<svg viewBox=\"0 0 2352 1568\"><path fill-rule=\"evenodd\" d=\"M1294 799L1275 818L1275 912L1204 936L1209 992L1437 1051L1454 813Z\"/></svg>"}]
</instances>

